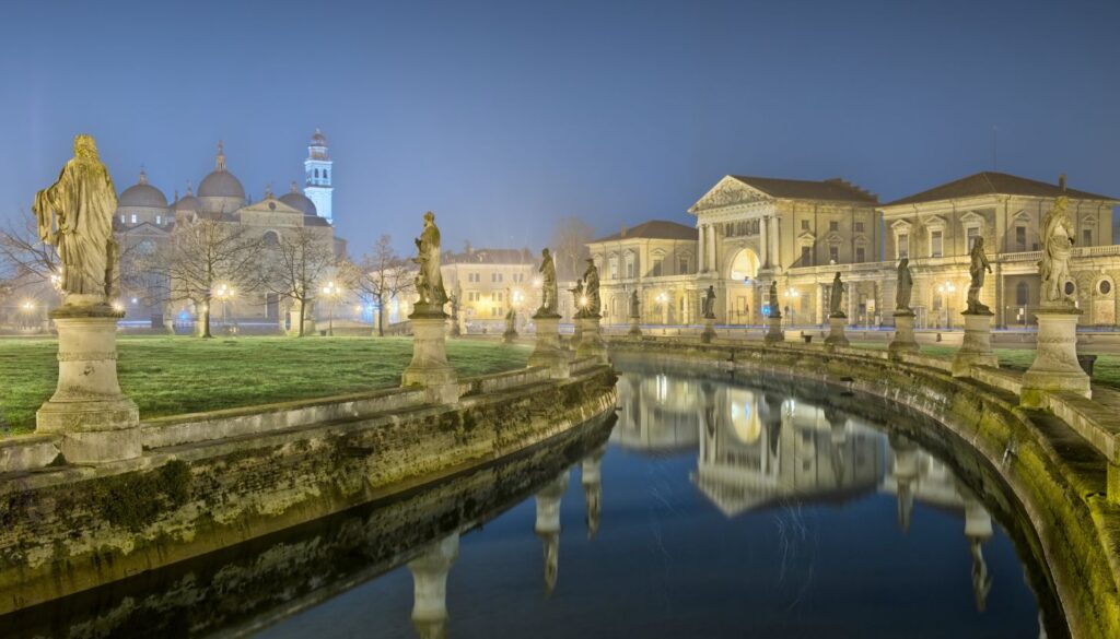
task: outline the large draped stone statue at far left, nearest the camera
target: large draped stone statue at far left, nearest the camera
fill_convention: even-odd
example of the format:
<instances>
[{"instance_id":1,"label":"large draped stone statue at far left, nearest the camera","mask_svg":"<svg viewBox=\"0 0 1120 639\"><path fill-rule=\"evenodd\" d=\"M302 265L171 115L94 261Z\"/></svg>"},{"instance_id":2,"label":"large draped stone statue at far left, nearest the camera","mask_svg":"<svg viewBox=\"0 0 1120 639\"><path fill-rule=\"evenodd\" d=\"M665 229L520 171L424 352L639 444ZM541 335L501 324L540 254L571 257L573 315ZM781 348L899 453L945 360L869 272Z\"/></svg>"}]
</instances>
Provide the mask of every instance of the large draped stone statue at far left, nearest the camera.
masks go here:
<instances>
[{"instance_id":1,"label":"large draped stone statue at far left, nearest the camera","mask_svg":"<svg viewBox=\"0 0 1120 639\"><path fill-rule=\"evenodd\" d=\"M74 157L54 185L35 194L31 210L39 238L58 251L65 303L106 304L119 267L113 239L116 190L92 137L74 138Z\"/></svg>"}]
</instances>

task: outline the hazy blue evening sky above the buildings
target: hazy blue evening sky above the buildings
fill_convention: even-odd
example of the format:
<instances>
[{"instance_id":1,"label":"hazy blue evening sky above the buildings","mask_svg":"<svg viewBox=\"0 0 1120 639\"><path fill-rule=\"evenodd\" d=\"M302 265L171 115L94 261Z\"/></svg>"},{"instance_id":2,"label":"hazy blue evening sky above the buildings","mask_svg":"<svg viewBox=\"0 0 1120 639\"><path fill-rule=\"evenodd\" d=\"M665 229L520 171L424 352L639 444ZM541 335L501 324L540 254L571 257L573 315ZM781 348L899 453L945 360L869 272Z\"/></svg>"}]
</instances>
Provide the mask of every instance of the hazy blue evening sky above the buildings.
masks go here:
<instances>
[{"instance_id":1,"label":"hazy blue evening sky above the buildings","mask_svg":"<svg viewBox=\"0 0 1120 639\"><path fill-rule=\"evenodd\" d=\"M351 253L541 246L728 173L896 199L997 170L1120 196L1120 2L54 2L0 20L0 219L97 139L119 189L214 167L259 199L316 128ZM993 153L993 133L995 149Z\"/></svg>"}]
</instances>

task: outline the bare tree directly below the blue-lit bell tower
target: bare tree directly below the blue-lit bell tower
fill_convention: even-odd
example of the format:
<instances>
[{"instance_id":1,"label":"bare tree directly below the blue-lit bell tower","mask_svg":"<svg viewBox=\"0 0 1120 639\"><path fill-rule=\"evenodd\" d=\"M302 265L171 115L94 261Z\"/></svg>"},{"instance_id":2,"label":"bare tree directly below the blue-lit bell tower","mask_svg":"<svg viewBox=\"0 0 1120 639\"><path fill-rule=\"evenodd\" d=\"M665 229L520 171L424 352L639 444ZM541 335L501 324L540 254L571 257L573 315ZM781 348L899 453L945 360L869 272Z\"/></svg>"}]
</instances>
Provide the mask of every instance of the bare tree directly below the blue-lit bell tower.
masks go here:
<instances>
[{"instance_id":1,"label":"bare tree directly below the blue-lit bell tower","mask_svg":"<svg viewBox=\"0 0 1120 639\"><path fill-rule=\"evenodd\" d=\"M265 288L299 307L298 335L304 337L307 309L315 301L319 282L336 267L330 235L309 226L287 229L268 251L263 265Z\"/></svg>"}]
</instances>

